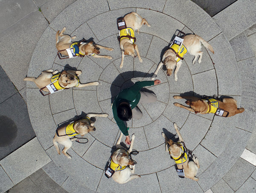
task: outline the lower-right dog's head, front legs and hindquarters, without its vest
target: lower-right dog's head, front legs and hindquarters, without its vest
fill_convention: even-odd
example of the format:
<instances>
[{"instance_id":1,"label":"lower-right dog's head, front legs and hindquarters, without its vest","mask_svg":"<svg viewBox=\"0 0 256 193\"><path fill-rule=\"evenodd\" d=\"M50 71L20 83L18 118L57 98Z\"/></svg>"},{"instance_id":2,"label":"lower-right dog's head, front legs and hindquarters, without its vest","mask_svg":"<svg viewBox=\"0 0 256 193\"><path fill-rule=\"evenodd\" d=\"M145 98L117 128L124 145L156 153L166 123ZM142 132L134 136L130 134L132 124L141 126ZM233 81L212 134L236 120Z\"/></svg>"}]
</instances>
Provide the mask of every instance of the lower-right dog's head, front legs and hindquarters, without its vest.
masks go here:
<instances>
[{"instance_id":1,"label":"lower-right dog's head, front legs and hindquarters, without its vest","mask_svg":"<svg viewBox=\"0 0 256 193\"><path fill-rule=\"evenodd\" d=\"M177 132L177 135L179 137L179 140L177 142L173 142L172 139L168 139L164 133L162 133L163 138L165 139L165 148L166 152L169 152L169 154L172 157L180 157L182 154L181 145L179 142L184 142L182 136L180 135L180 131L178 130L177 124L174 123L174 128ZM182 169L181 164L177 164L178 169ZM186 178L190 178L192 180L198 181L199 179L195 177L196 173L198 172L198 169L200 168L198 158L193 155L193 161L189 161L189 158L187 157L186 162L183 163L184 168L184 175Z\"/></svg>"}]
</instances>

